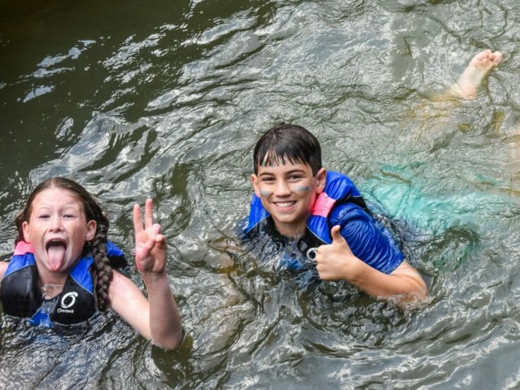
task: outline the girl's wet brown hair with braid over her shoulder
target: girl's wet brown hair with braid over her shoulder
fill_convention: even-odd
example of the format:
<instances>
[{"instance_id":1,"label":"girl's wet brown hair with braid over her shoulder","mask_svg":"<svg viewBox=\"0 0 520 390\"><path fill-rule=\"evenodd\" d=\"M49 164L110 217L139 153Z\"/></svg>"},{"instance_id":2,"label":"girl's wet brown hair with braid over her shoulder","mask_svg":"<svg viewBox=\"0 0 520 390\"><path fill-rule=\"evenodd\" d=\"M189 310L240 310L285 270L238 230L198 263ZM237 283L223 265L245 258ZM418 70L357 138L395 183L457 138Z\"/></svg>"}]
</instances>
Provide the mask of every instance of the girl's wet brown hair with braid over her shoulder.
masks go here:
<instances>
[{"instance_id":1,"label":"girl's wet brown hair with braid over her shoulder","mask_svg":"<svg viewBox=\"0 0 520 390\"><path fill-rule=\"evenodd\" d=\"M29 222L30 213L32 211L32 202L37 194L49 188L64 189L71 192L78 202L83 204L83 211L87 221L95 220L97 223L95 236L92 241L85 242L83 247L83 254L91 252L94 258L94 264L98 281L95 286L96 295L98 298L98 308L100 311L105 311L109 305L108 286L112 280L113 273L110 266L110 260L107 256L105 244L107 242L108 227L110 225L108 218L102 211L98 201L96 201L90 193L81 187L80 184L65 177L50 177L41 182L30 194L23 211L16 216L16 229L18 230L18 237L16 243L23 241L23 223Z\"/></svg>"}]
</instances>

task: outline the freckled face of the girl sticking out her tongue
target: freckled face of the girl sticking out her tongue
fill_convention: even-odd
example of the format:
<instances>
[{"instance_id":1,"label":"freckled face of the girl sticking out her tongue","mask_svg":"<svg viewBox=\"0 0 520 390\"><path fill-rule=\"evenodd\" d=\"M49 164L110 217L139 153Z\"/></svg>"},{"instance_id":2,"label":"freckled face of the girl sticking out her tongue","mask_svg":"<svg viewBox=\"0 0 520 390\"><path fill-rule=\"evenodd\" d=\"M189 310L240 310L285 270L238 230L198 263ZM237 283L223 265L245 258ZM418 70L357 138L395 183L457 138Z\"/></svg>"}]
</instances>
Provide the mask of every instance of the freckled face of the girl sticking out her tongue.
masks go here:
<instances>
[{"instance_id":1,"label":"freckled face of the girl sticking out her tongue","mask_svg":"<svg viewBox=\"0 0 520 390\"><path fill-rule=\"evenodd\" d=\"M66 273L80 259L85 242L93 240L96 226L95 220L86 220L83 203L73 192L50 187L35 196L22 228L39 269Z\"/></svg>"}]
</instances>

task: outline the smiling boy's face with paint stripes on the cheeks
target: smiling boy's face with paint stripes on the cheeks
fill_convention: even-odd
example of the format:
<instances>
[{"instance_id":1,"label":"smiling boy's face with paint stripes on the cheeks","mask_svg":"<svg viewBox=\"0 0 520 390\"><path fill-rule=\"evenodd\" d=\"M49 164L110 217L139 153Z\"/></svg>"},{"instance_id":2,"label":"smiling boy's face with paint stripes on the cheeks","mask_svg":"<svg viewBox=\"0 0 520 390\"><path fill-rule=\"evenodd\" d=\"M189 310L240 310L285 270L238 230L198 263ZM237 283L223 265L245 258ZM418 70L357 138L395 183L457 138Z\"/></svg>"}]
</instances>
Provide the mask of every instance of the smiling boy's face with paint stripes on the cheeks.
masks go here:
<instances>
[{"instance_id":1,"label":"smiling boy's face with paint stripes on the cheeks","mask_svg":"<svg viewBox=\"0 0 520 390\"><path fill-rule=\"evenodd\" d=\"M251 182L280 234L295 237L305 231L312 206L325 188L326 170L321 168L314 176L312 168L302 163L261 166Z\"/></svg>"}]
</instances>

